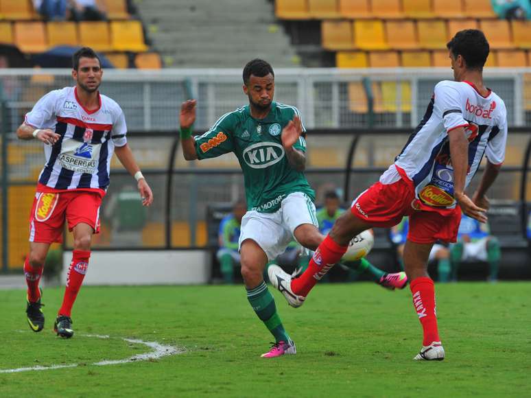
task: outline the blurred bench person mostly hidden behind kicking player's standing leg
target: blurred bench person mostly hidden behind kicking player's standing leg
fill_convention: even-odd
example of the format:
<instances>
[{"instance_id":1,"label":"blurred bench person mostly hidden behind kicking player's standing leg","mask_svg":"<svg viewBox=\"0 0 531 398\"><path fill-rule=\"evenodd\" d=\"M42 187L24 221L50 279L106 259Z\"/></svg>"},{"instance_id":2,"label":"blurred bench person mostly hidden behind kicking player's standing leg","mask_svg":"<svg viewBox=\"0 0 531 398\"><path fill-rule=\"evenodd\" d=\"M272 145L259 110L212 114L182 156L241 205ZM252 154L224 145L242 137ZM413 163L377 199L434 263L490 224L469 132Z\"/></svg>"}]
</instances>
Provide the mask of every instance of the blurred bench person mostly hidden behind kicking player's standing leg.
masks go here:
<instances>
[{"instance_id":1,"label":"blurred bench person mostly hidden behind kicking player's standing leg","mask_svg":"<svg viewBox=\"0 0 531 398\"><path fill-rule=\"evenodd\" d=\"M397 245L397 256L400 267L403 269L403 253L405 239L408 237L409 218L404 217L400 224L395 225L390 230L391 240ZM437 261L437 274L439 282L449 281L451 272L450 250L440 243L434 244L432 251L429 252L428 261Z\"/></svg>"}]
</instances>

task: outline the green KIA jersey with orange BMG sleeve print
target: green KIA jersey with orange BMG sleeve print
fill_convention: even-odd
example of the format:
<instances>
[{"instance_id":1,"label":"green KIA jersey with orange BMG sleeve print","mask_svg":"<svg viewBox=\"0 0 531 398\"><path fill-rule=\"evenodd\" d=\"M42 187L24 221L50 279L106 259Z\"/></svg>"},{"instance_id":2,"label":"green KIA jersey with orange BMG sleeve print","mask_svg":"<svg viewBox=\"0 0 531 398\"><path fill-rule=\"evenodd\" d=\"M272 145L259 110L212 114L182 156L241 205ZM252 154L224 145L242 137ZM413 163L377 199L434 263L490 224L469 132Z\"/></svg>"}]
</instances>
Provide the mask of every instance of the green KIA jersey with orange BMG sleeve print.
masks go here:
<instances>
[{"instance_id":1,"label":"green KIA jersey with orange BMG sleeve print","mask_svg":"<svg viewBox=\"0 0 531 398\"><path fill-rule=\"evenodd\" d=\"M252 117L248 105L226 113L209 131L196 138L198 159L234 152L244 172L248 210L273 213L294 192L302 192L314 200L314 190L304 173L290 165L282 146L282 129L294 115L300 117L297 108L280 102L272 102L270 113L264 119ZM303 137L293 146L306 152Z\"/></svg>"}]
</instances>

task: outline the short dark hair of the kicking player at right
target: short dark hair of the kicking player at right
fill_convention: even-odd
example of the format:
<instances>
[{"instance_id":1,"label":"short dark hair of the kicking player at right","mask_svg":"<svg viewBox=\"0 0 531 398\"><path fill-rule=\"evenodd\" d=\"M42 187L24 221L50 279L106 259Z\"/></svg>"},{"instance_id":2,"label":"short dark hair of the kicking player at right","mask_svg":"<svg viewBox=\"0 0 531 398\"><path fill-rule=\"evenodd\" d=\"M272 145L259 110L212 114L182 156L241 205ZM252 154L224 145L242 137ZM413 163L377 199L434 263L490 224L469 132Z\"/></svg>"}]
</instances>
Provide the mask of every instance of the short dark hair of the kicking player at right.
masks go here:
<instances>
[{"instance_id":1,"label":"short dark hair of the kicking player at right","mask_svg":"<svg viewBox=\"0 0 531 398\"><path fill-rule=\"evenodd\" d=\"M467 69L483 69L490 47L481 30L465 29L456 33L456 36L447 43L446 47L454 58L459 55L464 58Z\"/></svg>"}]
</instances>

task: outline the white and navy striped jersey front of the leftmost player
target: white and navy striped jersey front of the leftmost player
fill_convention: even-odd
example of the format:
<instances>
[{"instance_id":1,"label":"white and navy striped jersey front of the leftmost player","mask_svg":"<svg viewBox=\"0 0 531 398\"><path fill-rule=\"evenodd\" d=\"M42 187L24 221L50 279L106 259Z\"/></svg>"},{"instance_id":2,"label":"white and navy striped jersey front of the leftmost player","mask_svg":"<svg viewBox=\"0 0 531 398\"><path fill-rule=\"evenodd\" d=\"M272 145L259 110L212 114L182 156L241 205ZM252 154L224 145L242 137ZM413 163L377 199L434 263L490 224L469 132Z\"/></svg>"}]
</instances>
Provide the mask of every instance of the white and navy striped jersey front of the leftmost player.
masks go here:
<instances>
[{"instance_id":1,"label":"white and navy striped jersey front of the leftmost player","mask_svg":"<svg viewBox=\"0 0 531 398\"><path fill-rule=\"evenodd\" d=\"M98 189L109 185L115 146L126 145L126 119L120 106L98 95L99 108L87 110L75 87L50 91L25 116L25 124L54 130L60 139L44 145L46 163L38 183L50 190Z\"/></svg>"}]
</instances>

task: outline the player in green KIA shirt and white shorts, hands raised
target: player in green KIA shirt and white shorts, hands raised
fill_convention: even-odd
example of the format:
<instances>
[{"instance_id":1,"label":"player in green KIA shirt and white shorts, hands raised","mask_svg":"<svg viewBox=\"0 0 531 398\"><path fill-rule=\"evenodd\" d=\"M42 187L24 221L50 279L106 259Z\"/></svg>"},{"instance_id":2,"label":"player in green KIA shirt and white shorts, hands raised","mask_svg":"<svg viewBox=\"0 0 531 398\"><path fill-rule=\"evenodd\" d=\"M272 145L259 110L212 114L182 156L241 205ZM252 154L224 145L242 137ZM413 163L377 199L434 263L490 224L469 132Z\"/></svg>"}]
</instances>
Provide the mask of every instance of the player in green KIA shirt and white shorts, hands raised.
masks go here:
<instances>
[{"instance_id":1,"label":"player in green KIA shirt and white shorts, hands raised","mask_svg":"<svg viewBox=\"0 0 531 398\"><path fill-rule=\"evenodd\" d=\"M239 237L241 276L252 309L276 340L262 356L274 358L293 355L296 347L263 281L263 270L293 239L315 250L325 237L317 227L314 190L304 175L305 128L298 109L273 101L274 71L268 62L248 62L243 80L249 104L220 117L200 137L191 137L196 100L184 102L180 138L187 161L228 152L237 156L248 210L241 220ZM295 295L294 299L298 300Z\"/></svg>"}]
</instances>

